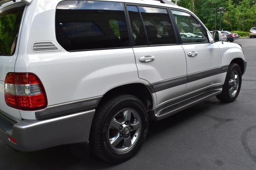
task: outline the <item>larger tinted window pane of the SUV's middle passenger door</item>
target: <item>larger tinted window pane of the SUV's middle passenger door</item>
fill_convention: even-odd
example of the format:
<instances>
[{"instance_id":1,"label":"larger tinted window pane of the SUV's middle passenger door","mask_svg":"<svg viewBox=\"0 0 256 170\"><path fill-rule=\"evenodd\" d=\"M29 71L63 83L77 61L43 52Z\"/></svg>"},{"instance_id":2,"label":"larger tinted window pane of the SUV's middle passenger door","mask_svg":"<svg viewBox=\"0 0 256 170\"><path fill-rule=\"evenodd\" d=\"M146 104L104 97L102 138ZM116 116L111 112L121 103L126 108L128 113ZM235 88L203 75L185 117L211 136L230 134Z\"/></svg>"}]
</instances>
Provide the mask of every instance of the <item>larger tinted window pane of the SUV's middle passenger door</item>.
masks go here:
<instances>
[{"instance_id":1,"label":"larger tinted window pane of the SUV's middle passenger door","mask_svg":"<svg viewBox=\"0 0 256 170\"><path fill-rule=\"evenodd\" d=\"M172 23L166 9L139 7L150 45L176 43Z\"/></svg>"}]
</instances>

